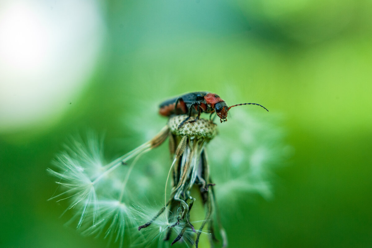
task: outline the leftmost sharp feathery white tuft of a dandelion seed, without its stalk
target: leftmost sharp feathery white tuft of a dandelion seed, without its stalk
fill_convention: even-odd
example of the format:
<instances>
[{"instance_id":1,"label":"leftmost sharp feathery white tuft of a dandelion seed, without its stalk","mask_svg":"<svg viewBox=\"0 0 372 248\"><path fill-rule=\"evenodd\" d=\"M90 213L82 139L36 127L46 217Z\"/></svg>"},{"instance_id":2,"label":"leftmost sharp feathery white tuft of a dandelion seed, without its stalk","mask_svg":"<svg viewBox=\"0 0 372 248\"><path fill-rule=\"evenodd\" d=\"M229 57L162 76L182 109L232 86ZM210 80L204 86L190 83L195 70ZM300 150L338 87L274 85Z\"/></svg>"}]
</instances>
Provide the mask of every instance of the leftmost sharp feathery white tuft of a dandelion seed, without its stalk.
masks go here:
<instances>
[{"instance_id":1,"label":"leftmost sharp feathery white tuft of a dandelion seed, without its stalk","mask_svg":"<svg viewBox=\"0 0 372 248\"><path fill-rule=\"evenodd\" d=\"M51 199L58 201L70 199L67 209L78 209L80 218L77 227L80 227L86 218L87 212L91 213L92 222L97 218L97 194L93 179L102 174L102 158L97 138L91 137L87 145L73 140L66 152L60 153L53 161L56 171L48 168L48 171L57 177L62 192L54 195ZM60 171L60 172L57 172Z\"/></svg>"}]
</instances>

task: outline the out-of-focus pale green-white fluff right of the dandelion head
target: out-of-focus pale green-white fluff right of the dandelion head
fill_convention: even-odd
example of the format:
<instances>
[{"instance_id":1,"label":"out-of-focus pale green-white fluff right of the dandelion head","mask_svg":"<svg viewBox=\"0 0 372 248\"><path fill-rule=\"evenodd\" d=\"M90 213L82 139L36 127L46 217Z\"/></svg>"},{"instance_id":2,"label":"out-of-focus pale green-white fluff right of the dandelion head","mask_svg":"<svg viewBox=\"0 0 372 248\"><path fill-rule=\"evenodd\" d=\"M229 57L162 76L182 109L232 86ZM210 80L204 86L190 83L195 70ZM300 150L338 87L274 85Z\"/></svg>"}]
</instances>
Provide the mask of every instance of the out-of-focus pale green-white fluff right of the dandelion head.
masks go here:
<instances>
[{"instance_id":1,"label":"out-of-focus pale green-white fluff right of the dandelion head","mask_svg":"<svg viewBox=\"0 0 372 248\"><path fill-rule=\"evenodd\" d=\"M219 126L219 135L208 145L218 198L238 198L239 192L246 191L270 199L273 168L291 150L283 143L284 131L275 124L278 117L248 114L247 110L237 108L231 114L228 123Z\"/></svg>"}]
</instances>

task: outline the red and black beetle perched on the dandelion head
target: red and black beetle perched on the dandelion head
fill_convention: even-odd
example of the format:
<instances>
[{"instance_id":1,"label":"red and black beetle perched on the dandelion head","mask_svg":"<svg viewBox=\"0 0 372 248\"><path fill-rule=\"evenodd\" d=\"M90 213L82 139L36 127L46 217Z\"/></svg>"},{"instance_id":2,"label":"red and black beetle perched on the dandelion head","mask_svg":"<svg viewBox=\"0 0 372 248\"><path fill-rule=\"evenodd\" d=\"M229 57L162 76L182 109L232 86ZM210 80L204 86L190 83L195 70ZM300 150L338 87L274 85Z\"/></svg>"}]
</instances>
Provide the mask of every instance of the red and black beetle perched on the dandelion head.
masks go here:
<instances>
[{"instance_id":1,"label":"red and black beetle perched on the dandelion head","mask_svg":"<svg viewBox=\"0 0 372 248\"><path fill-rule=\"evenodd\" d=\"M182 96L177 96L162 102L159 105L159 114L163 116L179 115L179 114L188 114L189 116L182 121L179 125L179 128L190 119L193 114L197 114L195 120L189 121L190 123L199 120L200 114L202 112L211 113L216 111L216 114L220 118L219 120L223 122L227 121L227 112L230 108L240 105L258 105L266 109L264 106L256 103L244 103L236 104L232 106L227 106L226 102L222 100L219 95L215 93L199 91L183 94ZM269 111L269 110L267 110Z\"/></svg>"}]
</instances>

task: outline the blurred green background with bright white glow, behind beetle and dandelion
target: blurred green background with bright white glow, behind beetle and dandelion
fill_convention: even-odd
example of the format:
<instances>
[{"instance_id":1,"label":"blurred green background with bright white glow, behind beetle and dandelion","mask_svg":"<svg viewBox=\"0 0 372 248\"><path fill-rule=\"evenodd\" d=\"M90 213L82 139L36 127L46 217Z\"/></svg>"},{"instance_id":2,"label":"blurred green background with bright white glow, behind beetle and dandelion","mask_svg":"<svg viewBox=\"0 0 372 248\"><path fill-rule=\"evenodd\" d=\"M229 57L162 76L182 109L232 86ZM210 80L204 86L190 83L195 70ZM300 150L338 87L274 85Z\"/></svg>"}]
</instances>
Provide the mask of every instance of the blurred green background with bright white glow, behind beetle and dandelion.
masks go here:
<instances>
[{"instance_id":1,"label":"blurred green background with bright white glow, behind beetle and dandelion","mask_svg":"<svg viewBox=\"0 0 372 248\"><path fill-rule=\"evenodd\" d=\"M1 247L106 246L58 218L50 161L86 128L121 155L160 130L161 101L199 90L283 115L295 151L272 200L237 199L230 247L371 247L371 1L1 5Z\"/></svg>"}]
</instances>

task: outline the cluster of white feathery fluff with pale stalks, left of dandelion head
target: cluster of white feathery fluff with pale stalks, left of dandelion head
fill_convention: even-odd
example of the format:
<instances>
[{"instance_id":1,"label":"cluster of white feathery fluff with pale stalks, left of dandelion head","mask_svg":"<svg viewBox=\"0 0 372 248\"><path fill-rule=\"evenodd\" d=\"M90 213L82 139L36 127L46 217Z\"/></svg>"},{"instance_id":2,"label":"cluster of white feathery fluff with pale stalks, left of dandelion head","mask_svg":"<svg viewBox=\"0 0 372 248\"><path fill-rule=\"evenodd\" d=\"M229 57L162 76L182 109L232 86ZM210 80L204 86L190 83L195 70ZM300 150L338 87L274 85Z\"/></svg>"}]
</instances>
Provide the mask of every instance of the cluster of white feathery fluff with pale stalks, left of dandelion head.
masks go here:
<instances>
[{"instance_id":1,"label":"cluster of white feathery fluff with pale stalks, left of dandelion head","mask_svg":"<svg viewBox=\"0 0 372 248\"><path fill-rule=\"evenodd\" d=\"M145 143L106 164L96 136L90 134L85 143L81 139L72 140L66 151L53 161L55 169L47 169L58 178L59 185L49 200L69 200L66 211L74 210L77 228L86 235L104 233L105 238L119 241L122 247L125 228L133 222L126 186L139 155L149 147L150 144ZM134 161L126 164L131 158L135 158Z\"/></svg>"}]
</instances>

